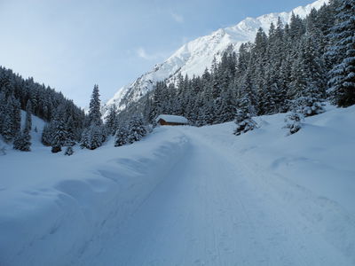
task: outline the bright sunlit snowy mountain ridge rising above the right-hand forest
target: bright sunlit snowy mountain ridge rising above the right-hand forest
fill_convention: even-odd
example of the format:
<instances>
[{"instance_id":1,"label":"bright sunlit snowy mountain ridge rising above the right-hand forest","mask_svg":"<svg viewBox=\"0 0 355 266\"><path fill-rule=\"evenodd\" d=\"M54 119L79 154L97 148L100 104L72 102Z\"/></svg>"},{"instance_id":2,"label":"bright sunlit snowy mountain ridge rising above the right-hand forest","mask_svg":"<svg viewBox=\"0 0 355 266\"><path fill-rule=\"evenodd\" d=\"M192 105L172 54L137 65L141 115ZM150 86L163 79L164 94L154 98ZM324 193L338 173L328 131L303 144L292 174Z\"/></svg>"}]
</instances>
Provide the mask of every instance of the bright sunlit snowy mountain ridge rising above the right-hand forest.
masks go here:
<instances>
[{"instance_id":1,"label":"bright sunlit snowy mountain ridge rising above the right-hand forest","mask_svg":"<svg viewBox=\"0 0 355 266\"><path fill-rule=\"evenodd\" d=\"M313 4L300 6L294 9L296 15L305 17L312 8L319 9L328 0L318 0ZM128 103L138 100L151 90L154 83L167 78L173 78L177 74L200 75L206 67L209 67L214 57L220 59L223 51L233 45L235 51L238 51L241 43L253 41L259 27L264 31L269 30L270 24L276 24L278 18L285 23L289 22L292 12L271 13L258 18L247 18L233 27L220 28L210 35L202 36L186 43L169 59L162 64L154 66L154 69L142 74L135 82L122 87L107 101L106 106L115 104L123 109Z\"/></svg>"}]
</instances>

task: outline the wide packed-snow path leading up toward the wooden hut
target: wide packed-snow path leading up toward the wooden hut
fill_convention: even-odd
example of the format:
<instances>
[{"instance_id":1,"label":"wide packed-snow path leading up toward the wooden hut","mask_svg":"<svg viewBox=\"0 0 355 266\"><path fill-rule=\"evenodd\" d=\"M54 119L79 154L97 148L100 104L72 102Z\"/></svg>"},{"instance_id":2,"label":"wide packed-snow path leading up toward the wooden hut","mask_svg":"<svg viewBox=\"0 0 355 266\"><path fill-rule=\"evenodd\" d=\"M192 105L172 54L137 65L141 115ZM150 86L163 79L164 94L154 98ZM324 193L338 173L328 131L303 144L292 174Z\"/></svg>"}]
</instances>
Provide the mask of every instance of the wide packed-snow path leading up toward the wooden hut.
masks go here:
<instances>
[{"instance_id":1,"label":"wide packed-snow path leading up toward the wooden hut","mask_svg":"<svg viewBox=\"0 0 355 266\"><path fill-rule=\"evenodd\" d=\"M189 141L185 157L75 265L355 263L355 223L335 203L178 130Z\"/></svg>"}]
</instances>

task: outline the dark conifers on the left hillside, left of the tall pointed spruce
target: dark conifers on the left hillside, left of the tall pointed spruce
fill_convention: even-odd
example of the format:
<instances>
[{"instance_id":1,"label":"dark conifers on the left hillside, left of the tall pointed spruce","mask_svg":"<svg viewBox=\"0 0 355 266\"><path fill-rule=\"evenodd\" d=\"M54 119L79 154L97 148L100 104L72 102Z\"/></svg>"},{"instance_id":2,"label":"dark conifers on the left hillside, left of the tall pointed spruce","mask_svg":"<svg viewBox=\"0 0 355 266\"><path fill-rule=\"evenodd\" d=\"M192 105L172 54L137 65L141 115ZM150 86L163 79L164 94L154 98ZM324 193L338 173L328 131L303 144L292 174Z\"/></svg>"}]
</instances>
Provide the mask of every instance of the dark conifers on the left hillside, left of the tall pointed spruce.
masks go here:
<instances>
[{"instance_id":1,"label":"dark conifers on the left hillside, left of the tall pointed spruce","mask_svg":"<svg viewBox=\"0 0 355 266\"><path fill-rule=\"evenodd\" d=\"M21 110L26 111L22 127ZM0 135L4 142L13 143L20 151L29 151L32 114L46 121L50 128L58 127L57 121L63 121L66 129L73 132L73 140L80 141L85 118L83 109L51 87L0 67ZM51 145L52 135L47 136L45 132L43 144Z\"/></svg>"}]
</instances>

